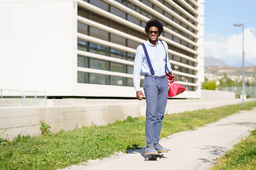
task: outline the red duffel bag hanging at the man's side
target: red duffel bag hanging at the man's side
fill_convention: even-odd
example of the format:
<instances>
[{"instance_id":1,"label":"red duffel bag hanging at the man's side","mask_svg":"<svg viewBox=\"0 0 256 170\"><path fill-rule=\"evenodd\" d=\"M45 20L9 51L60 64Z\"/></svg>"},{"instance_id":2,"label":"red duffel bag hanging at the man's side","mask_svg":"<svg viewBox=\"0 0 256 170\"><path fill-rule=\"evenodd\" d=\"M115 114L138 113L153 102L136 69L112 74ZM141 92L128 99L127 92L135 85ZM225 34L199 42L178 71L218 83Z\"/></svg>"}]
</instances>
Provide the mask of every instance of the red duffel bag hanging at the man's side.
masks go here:
<instances>
[{"instance_id":1,"label":"red duffel bag hanging at the man's side","mask_svg":"<svg viewBox=\"0 0 256 170\"><path fill-rule=\"evenodd\" d=\"M177 96L185 91L185 87L173 81L169 74L166 74L166 77L168 79L168 97Z\"/></svg>"}]
</instances>

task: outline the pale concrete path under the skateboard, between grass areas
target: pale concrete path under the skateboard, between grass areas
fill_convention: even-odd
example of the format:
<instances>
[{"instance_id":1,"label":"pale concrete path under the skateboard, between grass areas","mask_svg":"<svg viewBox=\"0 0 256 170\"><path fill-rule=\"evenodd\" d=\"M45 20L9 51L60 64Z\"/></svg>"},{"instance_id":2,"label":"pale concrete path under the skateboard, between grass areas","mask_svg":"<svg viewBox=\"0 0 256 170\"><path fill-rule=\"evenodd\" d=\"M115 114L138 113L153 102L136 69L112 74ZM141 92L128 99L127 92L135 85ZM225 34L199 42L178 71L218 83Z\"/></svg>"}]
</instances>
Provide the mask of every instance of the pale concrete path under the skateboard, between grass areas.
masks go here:
<instances>
[{"instance_id":1,"label":"pale concrete path under the skateboard, between grass areas","mask_svg":"<svg viewBox=\"0 0 256 170\"><path fill-rule=\"evenodd\" d=\"M170 151L159 161L145 161L143 148L103 160L89 160L86 166L66 169L207 169L214 164L212 159L231 150L255 127L256 108L222 118L195 131L179 132L162 139L161 145Z\"/></svg>"}]
</instances>

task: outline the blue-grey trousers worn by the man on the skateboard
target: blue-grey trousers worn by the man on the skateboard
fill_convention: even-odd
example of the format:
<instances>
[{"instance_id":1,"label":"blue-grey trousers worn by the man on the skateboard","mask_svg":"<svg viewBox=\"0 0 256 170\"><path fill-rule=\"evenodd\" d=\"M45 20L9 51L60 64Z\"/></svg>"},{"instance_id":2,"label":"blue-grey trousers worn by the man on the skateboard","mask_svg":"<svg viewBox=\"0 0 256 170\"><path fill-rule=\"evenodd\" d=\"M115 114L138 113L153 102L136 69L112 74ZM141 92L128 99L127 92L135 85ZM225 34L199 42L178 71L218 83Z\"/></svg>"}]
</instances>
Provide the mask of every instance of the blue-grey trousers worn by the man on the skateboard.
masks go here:
<instances>
[{"instance_id":1,"label":"blue-grey trousers worn by the man on the skateboard","mask_svg":"<svg viewBox=\"0 0 256 170\"><path fill-rule=\"evenodd\" d=\"M147 146L150 146L159 142L168 97L168 80L166 76L153 78L146 75L143 89L147 103L145 132Z\"/></svg>"}]
</instances>

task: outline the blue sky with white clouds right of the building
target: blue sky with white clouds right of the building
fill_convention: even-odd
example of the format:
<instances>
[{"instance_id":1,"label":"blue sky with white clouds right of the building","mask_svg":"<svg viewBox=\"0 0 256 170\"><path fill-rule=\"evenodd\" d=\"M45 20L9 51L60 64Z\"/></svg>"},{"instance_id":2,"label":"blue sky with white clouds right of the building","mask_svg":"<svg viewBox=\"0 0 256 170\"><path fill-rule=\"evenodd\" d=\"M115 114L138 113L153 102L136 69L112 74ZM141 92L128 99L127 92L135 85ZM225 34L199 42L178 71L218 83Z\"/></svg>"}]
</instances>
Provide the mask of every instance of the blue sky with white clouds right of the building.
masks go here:
<instances>
[{"instance_id":1,"label":"blue sky with white clouds right of the building","mask_svg":"<svg viewBox=\"0 0 256 170\"><path fill-rule=\"evenodd\" d=\"M256 66L256 0L205 0L205 57L241 66L242 27L246 66Z\"/></svg>"}]
</instances>

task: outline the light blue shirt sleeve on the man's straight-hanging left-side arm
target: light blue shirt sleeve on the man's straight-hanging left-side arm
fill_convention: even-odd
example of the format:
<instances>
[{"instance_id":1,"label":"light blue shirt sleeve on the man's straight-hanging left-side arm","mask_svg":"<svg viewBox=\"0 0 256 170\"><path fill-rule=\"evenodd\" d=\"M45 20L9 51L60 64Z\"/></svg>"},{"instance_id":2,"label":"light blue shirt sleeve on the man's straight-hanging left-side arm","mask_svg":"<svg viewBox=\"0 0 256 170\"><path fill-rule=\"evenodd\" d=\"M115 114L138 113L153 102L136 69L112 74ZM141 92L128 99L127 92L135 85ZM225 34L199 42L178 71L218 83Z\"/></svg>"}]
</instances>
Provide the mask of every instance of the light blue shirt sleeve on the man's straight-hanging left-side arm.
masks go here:
<instances>
[{"instance_id":1,"label":"light blue shirt sleeve on the man's straight-hanging left-side arm","mask_svg":"<svg viewBox=\"0 0 256 170\"><path fill-rule=\"evenodd\" d=\"M138 46L136 50L136 55L134 59L134 68L133 68L133 85L137 91L140 90L140 76L141 76L141 67L143 62L143 55L141 53L141 45Z\"/></svg>"}]
</instances>

